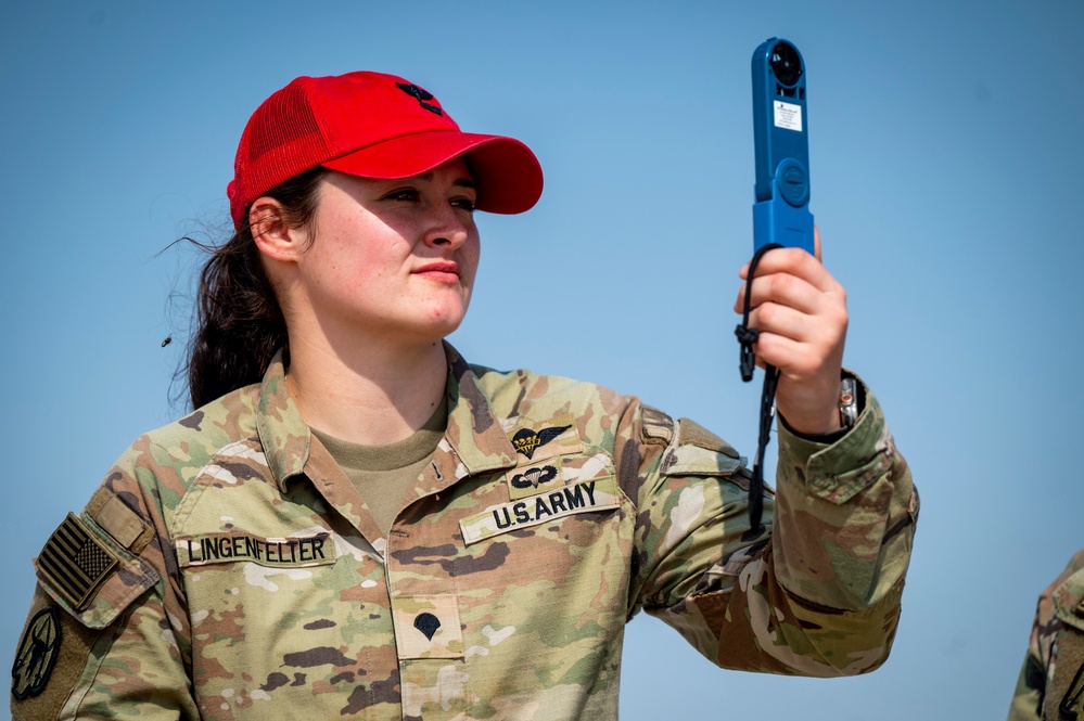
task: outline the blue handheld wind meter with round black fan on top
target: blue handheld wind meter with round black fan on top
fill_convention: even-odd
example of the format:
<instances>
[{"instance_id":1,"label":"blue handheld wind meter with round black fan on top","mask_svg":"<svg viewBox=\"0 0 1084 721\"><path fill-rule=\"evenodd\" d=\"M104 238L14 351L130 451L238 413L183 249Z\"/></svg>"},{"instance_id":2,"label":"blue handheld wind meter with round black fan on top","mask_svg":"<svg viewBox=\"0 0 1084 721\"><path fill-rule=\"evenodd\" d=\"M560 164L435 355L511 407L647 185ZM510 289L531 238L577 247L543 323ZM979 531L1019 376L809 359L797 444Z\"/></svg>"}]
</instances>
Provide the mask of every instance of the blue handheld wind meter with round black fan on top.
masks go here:
<instances>
[{"instance_id":1,"label":"blue handheld wind meter with round black fan on top","mask_svg":"<svg viewBox=\"0 0 1084 721\"><path fill-rule=\"evenodd\" d=\"M781 38L761 43L753 52L754 250L775 243L814 252L806 102L802 53Z\"/></svg>"}]
</instances>

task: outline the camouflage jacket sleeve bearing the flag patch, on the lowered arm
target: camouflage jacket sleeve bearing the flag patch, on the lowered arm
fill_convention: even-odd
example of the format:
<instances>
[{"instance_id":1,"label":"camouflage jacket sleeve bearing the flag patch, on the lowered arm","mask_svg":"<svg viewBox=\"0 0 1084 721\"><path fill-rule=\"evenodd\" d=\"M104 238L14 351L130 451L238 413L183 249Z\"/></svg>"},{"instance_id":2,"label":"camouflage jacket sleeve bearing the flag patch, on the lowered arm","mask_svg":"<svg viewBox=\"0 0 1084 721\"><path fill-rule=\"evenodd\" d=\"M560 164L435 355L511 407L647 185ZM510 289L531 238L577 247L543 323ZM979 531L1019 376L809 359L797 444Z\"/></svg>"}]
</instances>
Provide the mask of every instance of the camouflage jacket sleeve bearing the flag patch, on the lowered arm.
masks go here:
<instances>
[{"instance_id":1,"label":"camouflage jacket sleeve bearing the flag patch, on the lowered arm","mask_svg":"<svg viewBox=\"0 0 1084 721\"><path fill-rule=\"evenodd\" d=\"M139 456L138 446L126 459ZM126 459L34 559L13 719L200 718L186 670L188 614L161 531L169 490Z\"/></svg>"}]
</instances>

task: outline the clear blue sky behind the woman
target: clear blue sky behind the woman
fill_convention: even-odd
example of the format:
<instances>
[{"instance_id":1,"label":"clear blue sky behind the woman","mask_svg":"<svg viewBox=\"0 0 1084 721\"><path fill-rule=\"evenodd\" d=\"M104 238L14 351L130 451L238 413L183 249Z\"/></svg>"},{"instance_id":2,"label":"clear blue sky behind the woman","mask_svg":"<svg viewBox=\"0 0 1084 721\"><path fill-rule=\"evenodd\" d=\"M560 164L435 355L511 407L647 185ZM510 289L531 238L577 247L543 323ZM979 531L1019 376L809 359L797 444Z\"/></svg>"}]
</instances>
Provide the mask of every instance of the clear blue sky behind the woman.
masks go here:
<instances>
[{"instance_id":1,"label":"clear blue sky behind the woman","mask_svg":"<svg viewBox=\"0 0 1084 721\"><path fill-rule=\"evenodd\" d=\"M1084 545L1082 33L1081 0L3 3L0 668L30 557L182 411L196 259L160 252L219 237L241 129L297 75L404 75L537 153L539 205L480 220L452 338L469 359L637 394L751 453L758 383L739 379L730 306L752 249L749 60L780 36L808 66L846 363L922 495L903 619L884 668L815 681L718 671L639 617L622 718L1003 718L1035 597Z\"/></svg>"}]
</instances>

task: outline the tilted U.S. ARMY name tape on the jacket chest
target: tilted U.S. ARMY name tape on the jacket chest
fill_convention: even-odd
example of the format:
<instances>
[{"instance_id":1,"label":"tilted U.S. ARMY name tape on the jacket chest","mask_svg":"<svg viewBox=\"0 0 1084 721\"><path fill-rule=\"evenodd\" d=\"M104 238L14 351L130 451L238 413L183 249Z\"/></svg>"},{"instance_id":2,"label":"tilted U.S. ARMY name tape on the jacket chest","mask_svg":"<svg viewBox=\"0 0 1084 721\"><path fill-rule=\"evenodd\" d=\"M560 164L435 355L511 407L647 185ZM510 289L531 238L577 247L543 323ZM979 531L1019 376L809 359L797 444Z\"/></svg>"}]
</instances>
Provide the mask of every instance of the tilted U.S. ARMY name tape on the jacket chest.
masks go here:
<instances>
[{"instance_id":1,"label":"tilted U.S. ARMY name tape on the jacket chest","mask_svg":"<svg viewBox=\"0 0 1084 721\"><path fill-rule=\"evenodd\" d=\"M613 476L585 480L519 501L489 506L459 522L467 544L500 536L519 528L549 523L575 513L604 511L621 506L621 491Z\"/></svg>"}]
</instances>

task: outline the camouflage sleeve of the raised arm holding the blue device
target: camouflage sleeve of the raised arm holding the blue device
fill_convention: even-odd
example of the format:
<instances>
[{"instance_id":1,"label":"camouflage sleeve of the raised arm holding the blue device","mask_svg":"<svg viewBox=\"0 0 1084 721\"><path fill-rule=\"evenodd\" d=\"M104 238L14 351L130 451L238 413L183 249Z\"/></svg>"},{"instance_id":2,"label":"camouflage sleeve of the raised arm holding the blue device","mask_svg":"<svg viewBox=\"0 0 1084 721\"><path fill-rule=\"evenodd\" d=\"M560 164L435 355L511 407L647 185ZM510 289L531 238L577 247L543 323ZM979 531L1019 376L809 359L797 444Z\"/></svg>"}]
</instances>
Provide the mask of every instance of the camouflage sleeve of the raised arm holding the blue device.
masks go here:
<instances>
[{"instance_id":1,"label":"camouflage sleeve of the raised arm holding the blue device","mask_svg":"<svg viewBox=\"0 0 1084 721\"><path fill-rule=\"evenodd\" d=\"M834 443L779 424L777 490L760 532L750 529L750 474L729 445L687 419L630 407L616 448L640 510L629 615L642 607L724 668L837 677L883 664L919 501L862 389L864 409Z\"/></svg>"}]
</instances>

